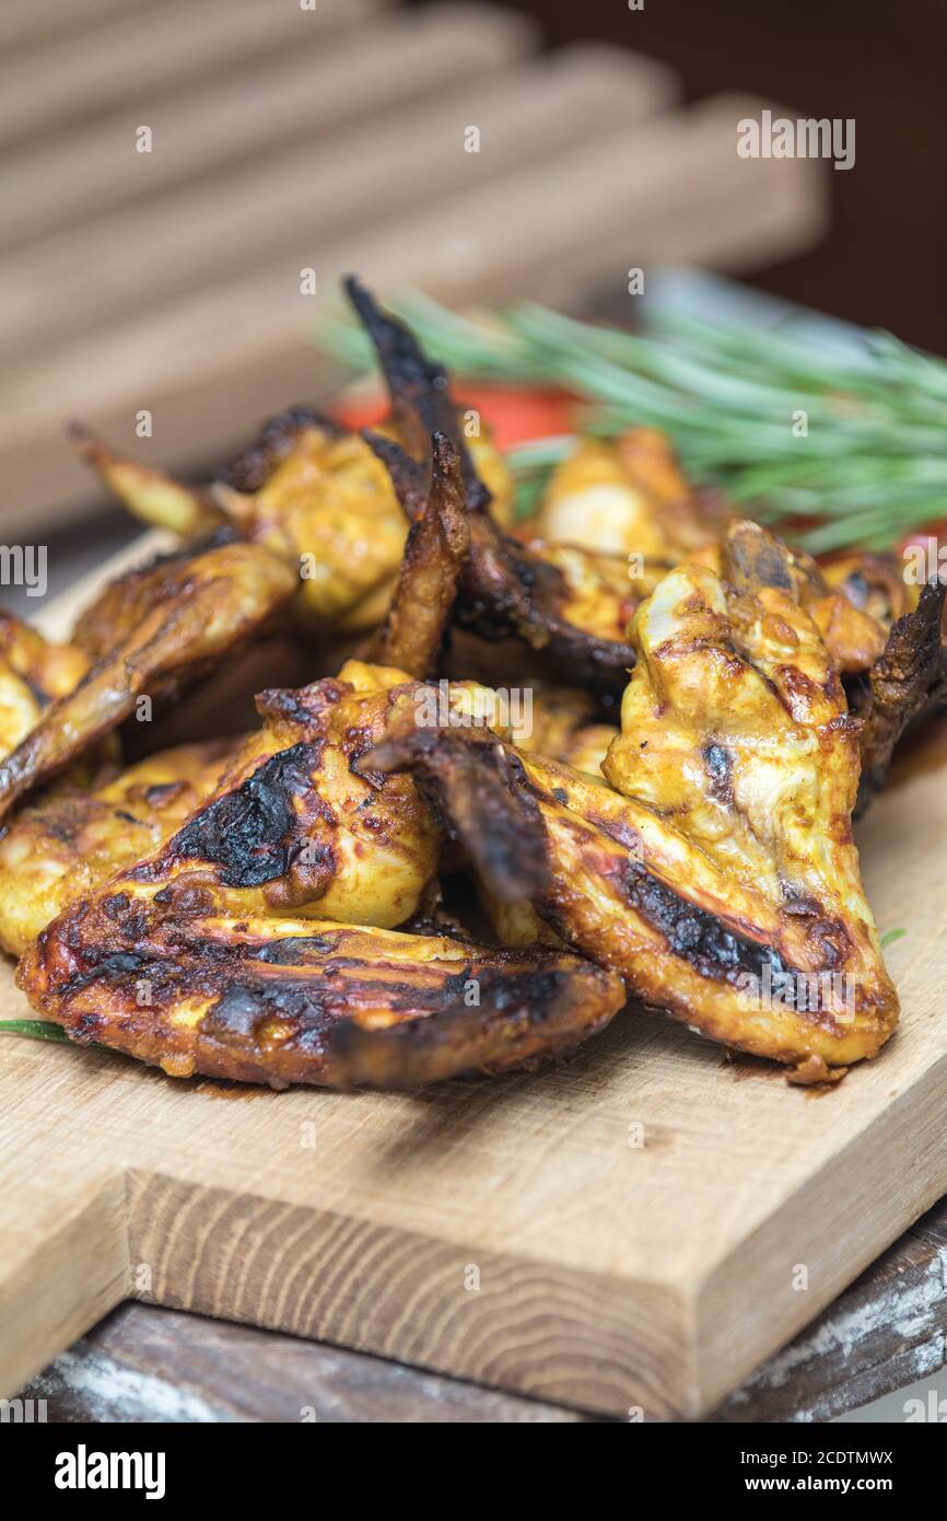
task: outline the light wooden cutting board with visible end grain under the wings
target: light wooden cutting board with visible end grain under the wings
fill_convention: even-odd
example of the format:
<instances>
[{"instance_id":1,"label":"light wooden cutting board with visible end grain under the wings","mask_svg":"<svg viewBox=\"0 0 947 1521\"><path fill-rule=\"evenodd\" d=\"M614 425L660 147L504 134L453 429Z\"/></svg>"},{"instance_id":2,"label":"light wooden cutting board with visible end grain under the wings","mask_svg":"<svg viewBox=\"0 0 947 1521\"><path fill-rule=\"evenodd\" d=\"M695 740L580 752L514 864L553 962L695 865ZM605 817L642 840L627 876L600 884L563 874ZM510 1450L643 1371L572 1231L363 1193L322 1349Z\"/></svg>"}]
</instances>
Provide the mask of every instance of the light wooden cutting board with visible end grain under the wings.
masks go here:
<instances>
[{"instance_id":1,"label":"light wooden cutting board with visible end grain under the wings","mask_svg":"<svg viewBox=\"0 0 947 1521\"><path fill-rule=\"evenodd\" d=\"M559 1069L416 1095L0 1040L0 1392L138 1297L591 1410L710 1410L947 1189L945 837L936 770L860 829L879 925L907 931L903 1025L824 1095L641 1011Z\"/></svg>"}]
</instances>

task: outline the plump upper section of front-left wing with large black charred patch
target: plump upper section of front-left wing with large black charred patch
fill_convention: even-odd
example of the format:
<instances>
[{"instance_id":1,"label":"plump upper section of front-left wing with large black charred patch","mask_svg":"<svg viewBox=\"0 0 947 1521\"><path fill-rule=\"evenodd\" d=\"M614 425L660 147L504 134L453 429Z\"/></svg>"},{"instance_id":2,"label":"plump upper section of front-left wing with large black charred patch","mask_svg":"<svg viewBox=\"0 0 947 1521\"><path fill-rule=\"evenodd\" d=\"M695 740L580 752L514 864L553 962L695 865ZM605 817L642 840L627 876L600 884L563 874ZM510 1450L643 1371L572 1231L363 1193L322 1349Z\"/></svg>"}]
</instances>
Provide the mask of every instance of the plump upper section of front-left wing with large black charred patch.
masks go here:
<instances>
[{"instance_id":1,"label":"plump upper section of front-left wing with large black charred patch","mask_svg":"<svg viewBox=\"0 0 947 1521\"><path fill-rule=\"evenodd\" d=\"M155 891L233 916L295 911L389 928L413 914L436 870L429 812L410 779L351 771L410 700L404 672L357 662L339 680L261 694L263 727L210 797L116 879L129 922Z\"/></svg>"}]
</instances>

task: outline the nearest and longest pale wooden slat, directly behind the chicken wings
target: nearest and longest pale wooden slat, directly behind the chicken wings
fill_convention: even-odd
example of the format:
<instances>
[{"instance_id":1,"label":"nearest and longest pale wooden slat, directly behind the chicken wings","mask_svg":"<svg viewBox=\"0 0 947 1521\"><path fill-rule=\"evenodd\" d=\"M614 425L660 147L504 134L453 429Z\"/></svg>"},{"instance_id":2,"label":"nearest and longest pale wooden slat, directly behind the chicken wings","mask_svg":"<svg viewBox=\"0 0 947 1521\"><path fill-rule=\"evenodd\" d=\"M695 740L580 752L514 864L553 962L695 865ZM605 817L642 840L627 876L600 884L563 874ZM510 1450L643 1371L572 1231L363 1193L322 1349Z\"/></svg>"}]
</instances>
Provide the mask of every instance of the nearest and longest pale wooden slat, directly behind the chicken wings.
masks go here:
<instances>
[{"instance_id":1,"label":"nearest and longest pale wooden slat, directly behind the chicken wings","mask_svg":"<svg viewBox=\"0 0 947 1521\"><path fill-rule=\"evenodd\" d=\"M319 365L309 332L348 269L458 304L515 292L569 304L578 281L625 289L625 271L648 260L740 271L806 246L822 227L822 166L737 158L736 120L759 106L717 97L562 149L552 166L454 186L407 218L331 246L301 245L251 277L26 367L0 386L6 525L35 523L38 505L82 500L84 473L61 433L76 412L144 456L198 464L245 437L251 420L312 394ZM313 262L315 301L298 284ZM132 437L138 408L155 414L149 443Z\"/></svg>"}]
</instances>

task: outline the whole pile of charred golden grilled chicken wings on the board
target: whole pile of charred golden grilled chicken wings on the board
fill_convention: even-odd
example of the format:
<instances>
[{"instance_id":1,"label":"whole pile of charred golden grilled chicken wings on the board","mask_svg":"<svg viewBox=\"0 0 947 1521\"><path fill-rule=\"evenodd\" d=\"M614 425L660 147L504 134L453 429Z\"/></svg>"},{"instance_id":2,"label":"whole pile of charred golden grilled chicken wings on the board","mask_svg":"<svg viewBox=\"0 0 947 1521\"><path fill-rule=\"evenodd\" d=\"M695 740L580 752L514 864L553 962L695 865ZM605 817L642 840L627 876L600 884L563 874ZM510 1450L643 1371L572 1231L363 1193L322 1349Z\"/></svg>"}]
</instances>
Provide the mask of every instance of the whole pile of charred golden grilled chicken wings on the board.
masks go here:
<instances>
[{"instance_id":1,"label":"whole pile of charred golden grilled chicken wings on the board","mask_svg":"<svg viewBox=\"0 0 947 1521\"><path fill-rule=\"evenodd\" d=\"M179 543L67 645L0 614L0 945L30 1002L274 1088L532 1066L641 1004L795 1081L873 1057L898 1001L851 820L944 704L944 587L818 564L645 427L581 440L515 522L448 376L347 291L377 430L295 408L199 488L74 430ZM193 718L274 640L307 684L123 760L141 698Z\"/></svg>"}]
</instances>

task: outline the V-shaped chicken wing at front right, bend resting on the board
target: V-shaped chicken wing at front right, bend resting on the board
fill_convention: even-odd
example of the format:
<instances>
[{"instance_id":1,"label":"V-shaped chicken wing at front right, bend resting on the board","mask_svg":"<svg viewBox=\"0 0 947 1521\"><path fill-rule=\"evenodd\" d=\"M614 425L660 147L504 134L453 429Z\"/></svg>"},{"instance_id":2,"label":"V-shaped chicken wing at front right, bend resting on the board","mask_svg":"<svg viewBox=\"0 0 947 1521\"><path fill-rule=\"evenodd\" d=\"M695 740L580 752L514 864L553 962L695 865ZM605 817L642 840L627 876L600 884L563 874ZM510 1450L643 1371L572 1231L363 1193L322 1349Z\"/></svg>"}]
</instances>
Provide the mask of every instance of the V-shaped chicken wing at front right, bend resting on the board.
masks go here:
<instances>
[{"instance_id":1,"label":"V-shaped chicken wing at front right, bend resting on the board","mask_svg":"<svg viewBox=\"0 0 947 1521\"><path fill-rule=\"evenodd\" d=\"M363 764L424 774L497 890L474 803L493 774L505 838L546 844L535 908L641 1001L806 1077L874 1056L898 1004L851 838L857 726L815 624L681 566L632 639L611 788L483 732L403 727Z\"/></svg>"}]
</instances>

